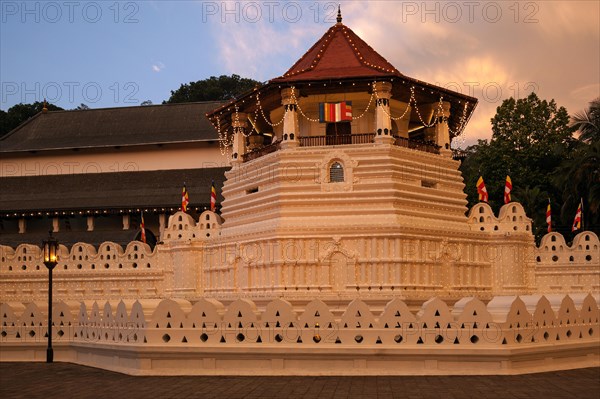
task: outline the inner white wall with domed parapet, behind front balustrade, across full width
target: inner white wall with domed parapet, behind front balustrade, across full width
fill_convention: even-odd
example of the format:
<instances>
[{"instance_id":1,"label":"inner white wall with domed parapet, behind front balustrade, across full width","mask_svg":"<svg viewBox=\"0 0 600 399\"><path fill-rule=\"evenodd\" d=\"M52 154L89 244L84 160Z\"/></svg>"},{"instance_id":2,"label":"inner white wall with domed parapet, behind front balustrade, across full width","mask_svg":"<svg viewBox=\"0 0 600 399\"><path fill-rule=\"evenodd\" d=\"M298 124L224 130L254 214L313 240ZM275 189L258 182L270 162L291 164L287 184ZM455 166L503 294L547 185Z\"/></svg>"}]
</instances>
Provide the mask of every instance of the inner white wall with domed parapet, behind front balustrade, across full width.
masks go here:
<instances>
[{"instance_id":1,"label":"inner white wall with domed parapet, behind front balustrade, across full width","mask_svg":"<svg viewBox=\"0 0 600 399\"><path fill-rule=\"evenodd\" d=\"M481 221L480 218L483 218ZM486 204L468 216L472 230L434 238L382 230L327 236L223 236L223 220L176 213L154 252L140 242L61 247L54 295L62 300L121 298L378 298L423 302L469 295L600 291L598 237L578 234L571 246L551 233L539 248L519 204L497 218ZM516 227L516 230L515 230ZM484 230L481 230L481 229ZM48 272L40 248L0 246L0 301L43 301Z\"/></svg>"}]
</instances>

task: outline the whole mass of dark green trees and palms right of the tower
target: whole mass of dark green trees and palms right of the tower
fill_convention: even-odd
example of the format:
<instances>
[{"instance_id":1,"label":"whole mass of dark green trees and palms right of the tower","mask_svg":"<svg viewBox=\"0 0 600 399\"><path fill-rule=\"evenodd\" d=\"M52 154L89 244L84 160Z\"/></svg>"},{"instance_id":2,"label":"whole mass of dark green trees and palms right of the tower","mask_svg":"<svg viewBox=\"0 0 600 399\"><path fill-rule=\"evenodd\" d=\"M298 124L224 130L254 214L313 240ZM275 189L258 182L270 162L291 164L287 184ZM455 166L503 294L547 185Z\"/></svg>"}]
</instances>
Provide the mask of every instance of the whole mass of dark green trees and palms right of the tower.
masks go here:
<instances>
[{"instance_id":1,"label":"whole mass of dark green trees and palms right of the tower","mask_svg":"<svg viewBox=\"0 0 600 399\"><path fill-rule=\"evenodd\" d=\"M535 93L524 99L505 100L491 121L491 141L480 140L467 148L461 165L469 207L478 202L475 184L481 175L490 194L490 206L497 211L504 204L508 174L513 183L512 199L520 202L533 219L538 239L547 231L548 199L552 202L554 230L569 236L583 197L585 228L598 232L598 135L582 134L576 139L573 133L577 126L570 123L567 110L554 100L540 100Z\"/></svg>"}]
</instances>

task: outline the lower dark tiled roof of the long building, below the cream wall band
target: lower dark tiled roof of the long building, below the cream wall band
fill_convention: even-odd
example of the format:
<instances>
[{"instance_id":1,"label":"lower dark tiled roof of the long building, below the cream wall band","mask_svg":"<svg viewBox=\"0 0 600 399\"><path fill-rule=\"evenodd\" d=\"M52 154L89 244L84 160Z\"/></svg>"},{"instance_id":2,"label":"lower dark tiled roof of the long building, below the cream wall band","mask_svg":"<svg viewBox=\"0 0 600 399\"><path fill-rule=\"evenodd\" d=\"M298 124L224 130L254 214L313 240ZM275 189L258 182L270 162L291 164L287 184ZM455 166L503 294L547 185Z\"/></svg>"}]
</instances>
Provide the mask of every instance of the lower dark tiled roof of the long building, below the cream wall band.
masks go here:
<instances>
[{"instance_id":1,"label":"lower dark tiled roof of the long building, below the cream wall band","mask_svg":"<svg viewBox=\"0 0 600 399\"><path fill-rule=\"evenodd\" d=\"M181 206L186 183L190 207L209 206L214 180L219 198L228 168L2 178L0 214L66 210L119 210Z\"/></svg>"}]
</instances>

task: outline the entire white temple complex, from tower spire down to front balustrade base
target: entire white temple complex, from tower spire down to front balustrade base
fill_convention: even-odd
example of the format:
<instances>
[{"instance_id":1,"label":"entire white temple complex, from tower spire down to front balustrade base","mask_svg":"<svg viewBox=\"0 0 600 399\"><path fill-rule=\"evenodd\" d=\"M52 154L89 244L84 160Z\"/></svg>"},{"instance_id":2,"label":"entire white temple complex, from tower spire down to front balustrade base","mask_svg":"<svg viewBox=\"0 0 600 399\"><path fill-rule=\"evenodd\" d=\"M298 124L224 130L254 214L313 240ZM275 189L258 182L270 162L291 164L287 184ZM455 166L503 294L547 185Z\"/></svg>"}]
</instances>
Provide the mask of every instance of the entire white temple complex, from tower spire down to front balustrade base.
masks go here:
<instances>
[{"instance_id":1,"label":"entire white temple complex, from tower spire down to front balustrade base","mask_svg":"<svg viewBox=\"0 0 600 399\"><path fill-rule=\"evenodd\" d=\"M136 375L597 367L600 241L536 246L519 203L467 208L450 144L476 105L338 12L229 103L37 115L0 142L0 361L42 359L52 325L60 361Z\"/></svg>"}]
</instances>

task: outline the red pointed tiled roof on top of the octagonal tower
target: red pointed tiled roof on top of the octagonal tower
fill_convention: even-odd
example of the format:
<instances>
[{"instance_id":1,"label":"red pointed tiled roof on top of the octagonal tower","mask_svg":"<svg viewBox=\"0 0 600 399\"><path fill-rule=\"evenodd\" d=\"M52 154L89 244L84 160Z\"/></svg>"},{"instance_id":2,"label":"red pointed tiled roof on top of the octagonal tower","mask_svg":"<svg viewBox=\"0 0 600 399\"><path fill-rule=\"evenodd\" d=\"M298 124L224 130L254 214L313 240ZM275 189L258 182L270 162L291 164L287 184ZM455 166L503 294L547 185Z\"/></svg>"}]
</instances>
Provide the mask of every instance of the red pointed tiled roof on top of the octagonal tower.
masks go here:
<instances>
[{"instance_id":1,"label":"red pointed tiled roof on top of the octagonal tower","mask_svg":"<svg viewBox=\"0 0 600 399\"><path fill-rule=\"evenodd\" d=\"M274 82L397 76L385 58L342 23L337 23Z\"/></svg>"}]
</instances>

